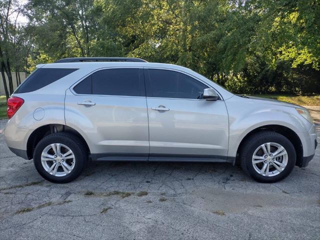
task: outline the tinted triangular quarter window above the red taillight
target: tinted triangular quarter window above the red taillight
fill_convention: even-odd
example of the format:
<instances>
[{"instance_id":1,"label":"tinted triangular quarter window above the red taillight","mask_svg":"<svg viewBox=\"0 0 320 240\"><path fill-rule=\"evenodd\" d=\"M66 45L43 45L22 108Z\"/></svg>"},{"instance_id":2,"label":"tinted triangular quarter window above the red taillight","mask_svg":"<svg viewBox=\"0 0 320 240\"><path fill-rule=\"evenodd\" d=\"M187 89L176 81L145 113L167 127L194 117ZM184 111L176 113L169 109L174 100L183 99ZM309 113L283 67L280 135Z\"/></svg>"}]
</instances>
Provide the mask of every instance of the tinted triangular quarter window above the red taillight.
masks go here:
<instances>
[{"instance_id":1,"label":"tinted triangular quarter window above the red taillight","mask_svg":"<svg viewBox=\"0 0 320 240\"><path fill-rule=\"evenodd\" d=\"M14 93L35 91L75 70L77 68L38 68L22 82Z\"/></svg>"}]
</instances>

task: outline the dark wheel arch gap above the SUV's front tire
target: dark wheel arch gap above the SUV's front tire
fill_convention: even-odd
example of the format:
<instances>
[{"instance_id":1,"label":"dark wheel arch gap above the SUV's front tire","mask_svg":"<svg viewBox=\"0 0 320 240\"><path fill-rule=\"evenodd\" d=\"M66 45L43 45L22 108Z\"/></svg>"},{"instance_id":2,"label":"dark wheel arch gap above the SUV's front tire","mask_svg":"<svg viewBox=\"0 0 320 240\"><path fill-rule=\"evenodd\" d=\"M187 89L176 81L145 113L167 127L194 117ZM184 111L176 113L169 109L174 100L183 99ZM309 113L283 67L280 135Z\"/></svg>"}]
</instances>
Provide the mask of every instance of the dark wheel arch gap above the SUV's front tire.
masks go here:
<instances>
[{"instance_id":1,"label":"dark wheel arch gap above the SUV's front tire","mask_svg":"<svg viewBox=\"0 0 320 240\"><path fill-rule=\"evenodd\" d=\"M283 136L285 136L286 138L288 138L288 140L292 143L292 145L294 146L295 149L295 153L296 153L296 162L295 165L300 165L300 162L303 159L303 146L302 146L302 142L299 138L299 136L289 127L283 126L283 125L276 125L276 124L270 124L270 125L263 125L263 126L259 126L251 131L249 131L240 141L240 144L237 147L237 151L236 151L236 157L234 160L234 164L238 165L239 164L239 151L244 143L244 141L249 138L251 135L260 132L260 131L265 131L265 130L271 130L271 131L275 131Z\"/></svg>"}]
</instances>

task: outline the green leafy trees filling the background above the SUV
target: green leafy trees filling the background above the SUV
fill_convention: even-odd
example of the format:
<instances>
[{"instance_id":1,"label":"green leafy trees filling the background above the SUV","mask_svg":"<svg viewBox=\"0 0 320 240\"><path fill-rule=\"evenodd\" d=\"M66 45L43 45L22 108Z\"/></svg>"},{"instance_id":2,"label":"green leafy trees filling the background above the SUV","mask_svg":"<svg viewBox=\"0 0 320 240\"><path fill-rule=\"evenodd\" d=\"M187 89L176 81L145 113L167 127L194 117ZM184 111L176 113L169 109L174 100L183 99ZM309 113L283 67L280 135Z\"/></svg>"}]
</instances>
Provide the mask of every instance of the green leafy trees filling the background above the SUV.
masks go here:
<instances>
[{"instance_id":1,"label":"green leafy trees filling the background above the SUV","mask_svg":"<svg viewBox=\"0 0 320 240\"><path fill-rule=\"evenodd\" d=\"M23 9L29 22L15 35L32 47L16 64L27 71L62 57L132 56L190 67L237 93L320 92L320 0L28 0Z\"/></svg>"}]
</instances>

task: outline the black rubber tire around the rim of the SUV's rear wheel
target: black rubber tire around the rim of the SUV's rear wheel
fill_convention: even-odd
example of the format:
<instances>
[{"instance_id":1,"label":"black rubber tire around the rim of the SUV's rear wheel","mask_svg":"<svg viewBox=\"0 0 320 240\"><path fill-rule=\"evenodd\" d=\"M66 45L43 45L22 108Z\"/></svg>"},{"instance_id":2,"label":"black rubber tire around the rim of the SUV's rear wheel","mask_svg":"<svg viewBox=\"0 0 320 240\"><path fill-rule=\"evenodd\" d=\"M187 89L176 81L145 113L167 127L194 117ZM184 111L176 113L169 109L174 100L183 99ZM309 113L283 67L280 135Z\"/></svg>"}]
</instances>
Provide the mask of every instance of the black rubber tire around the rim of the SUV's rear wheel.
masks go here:
<instances>
[{"instance_id":1,"label":"black rubber tire around the rim of the SUV's rear wheel","mask_svg":"<svg viewBox=\"0 0 320 240\"><path fill-rule=\"evenodd\" d=\"M62 143L69 147L74 154L74 168L65 176L54 176L49 174L41 164L41 153L43 149L52 143ZM33 152L33 163L37 172L46 180L55 183L65 183L78 177L87 161L87 151L83 142L75 135L67 132L57 132L42 138L36 145Z\"/></svg>"}]
</instances>

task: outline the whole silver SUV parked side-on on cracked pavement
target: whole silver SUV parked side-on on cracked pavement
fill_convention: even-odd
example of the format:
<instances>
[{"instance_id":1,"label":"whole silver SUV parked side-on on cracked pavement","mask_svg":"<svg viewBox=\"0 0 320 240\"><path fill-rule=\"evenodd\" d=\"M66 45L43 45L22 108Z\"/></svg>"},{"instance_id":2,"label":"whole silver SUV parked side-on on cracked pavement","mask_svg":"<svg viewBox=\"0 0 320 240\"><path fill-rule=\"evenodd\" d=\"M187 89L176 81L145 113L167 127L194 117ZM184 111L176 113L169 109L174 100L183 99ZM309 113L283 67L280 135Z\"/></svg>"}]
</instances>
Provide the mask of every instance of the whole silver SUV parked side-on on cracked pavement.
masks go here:
<instances>
[{"instance_id":1,"label":"whole silver SUV parked side-on on cracked pavement","mask_svg":"<svg viewBox=\"0 0 320 240\"><path fill-rule=\"evenodd\" d=\"M232 94L185 67L139 58L65 58L37 65L8 99L5 139L52 182L94 161L240 164L274 182L316 147L304 107Z\"/></svg>"}]
</instances>

